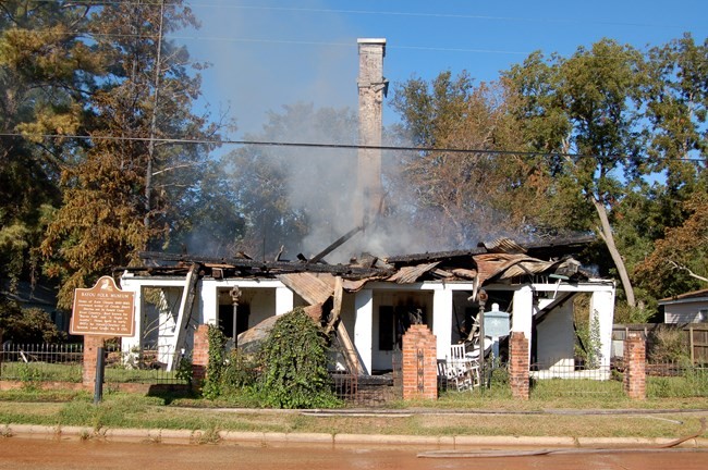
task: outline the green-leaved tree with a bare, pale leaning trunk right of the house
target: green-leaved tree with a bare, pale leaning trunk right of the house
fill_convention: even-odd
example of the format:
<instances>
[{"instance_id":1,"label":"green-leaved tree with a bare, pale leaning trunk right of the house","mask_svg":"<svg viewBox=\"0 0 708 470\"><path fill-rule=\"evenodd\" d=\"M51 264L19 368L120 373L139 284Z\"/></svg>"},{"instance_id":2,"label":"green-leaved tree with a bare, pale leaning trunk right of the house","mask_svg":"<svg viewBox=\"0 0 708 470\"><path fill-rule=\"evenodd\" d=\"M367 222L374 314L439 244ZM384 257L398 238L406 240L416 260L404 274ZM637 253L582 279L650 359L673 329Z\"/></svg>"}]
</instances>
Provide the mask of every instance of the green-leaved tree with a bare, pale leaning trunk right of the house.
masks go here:
<instances>
[{"instance_id":1,"label":"green-leaved tree with a bare, pale leaning trunk right of the house","mask_svg":"<svg viewBox=\"0 0 708 470\"><path fill-rule=\"evenodd\" d=\"M569 59L534 53L504 74L524 99L518 119L530 149L554 154L549 165L554 201L562 202L557 208L572 214L576 228L600 235L632 307L634 287L615 244L612 210L643 171L643 62L634 48L603 39Z\"/></svg>"}]
</instances>

